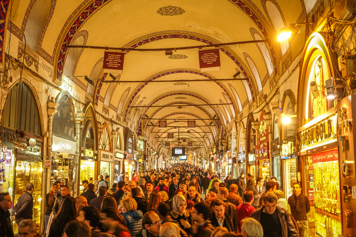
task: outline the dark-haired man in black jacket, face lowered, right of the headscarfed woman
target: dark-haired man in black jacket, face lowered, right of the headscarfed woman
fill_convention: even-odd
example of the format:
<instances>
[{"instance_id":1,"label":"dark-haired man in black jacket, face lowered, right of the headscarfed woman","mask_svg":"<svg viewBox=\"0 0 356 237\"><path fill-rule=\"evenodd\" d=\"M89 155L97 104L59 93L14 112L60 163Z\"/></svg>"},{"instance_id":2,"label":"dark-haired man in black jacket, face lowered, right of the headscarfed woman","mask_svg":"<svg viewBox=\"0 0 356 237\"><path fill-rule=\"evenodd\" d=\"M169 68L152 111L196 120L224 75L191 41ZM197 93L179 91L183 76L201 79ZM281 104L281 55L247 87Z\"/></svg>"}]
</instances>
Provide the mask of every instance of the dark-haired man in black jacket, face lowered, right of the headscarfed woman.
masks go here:
<instances>
[{"instance_id":1,"label":"dark-haired man in black jacket, face lowered, right of the headscarfed woman","mask_svg":"<svg viewBox=\"0 0 356 237\"><path fill-rule=\"evenodd\" d=\"M223 201L217 199L214 200L213 215L210 217L211 225L218 227L223 226L227 231L235 231L234 223L232 223L231 217L225 213L225 204Z\"/></svg>"}]
</instances>

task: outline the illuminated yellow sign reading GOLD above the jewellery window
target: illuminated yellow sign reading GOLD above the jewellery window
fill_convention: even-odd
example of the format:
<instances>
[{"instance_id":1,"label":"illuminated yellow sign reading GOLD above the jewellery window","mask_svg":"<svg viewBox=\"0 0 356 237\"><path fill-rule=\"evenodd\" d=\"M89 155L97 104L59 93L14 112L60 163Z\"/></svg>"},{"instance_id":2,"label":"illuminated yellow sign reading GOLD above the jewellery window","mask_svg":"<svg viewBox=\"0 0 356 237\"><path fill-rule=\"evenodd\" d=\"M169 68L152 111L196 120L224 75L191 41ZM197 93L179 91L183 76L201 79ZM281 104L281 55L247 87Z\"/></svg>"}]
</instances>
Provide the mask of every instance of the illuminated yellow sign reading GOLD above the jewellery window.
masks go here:
<instances>
[{"instance_id":1,"label":"illuminated yellow sign reading GOLD above the jewellery window","mask_svg":"<svg viewBox=\"0 0 356 237\"><path fill-rule=\"evenodd\" d=\"M310 126L299 133L301 151L336 141L336 115Z\"/></svg>"}]
</instances>

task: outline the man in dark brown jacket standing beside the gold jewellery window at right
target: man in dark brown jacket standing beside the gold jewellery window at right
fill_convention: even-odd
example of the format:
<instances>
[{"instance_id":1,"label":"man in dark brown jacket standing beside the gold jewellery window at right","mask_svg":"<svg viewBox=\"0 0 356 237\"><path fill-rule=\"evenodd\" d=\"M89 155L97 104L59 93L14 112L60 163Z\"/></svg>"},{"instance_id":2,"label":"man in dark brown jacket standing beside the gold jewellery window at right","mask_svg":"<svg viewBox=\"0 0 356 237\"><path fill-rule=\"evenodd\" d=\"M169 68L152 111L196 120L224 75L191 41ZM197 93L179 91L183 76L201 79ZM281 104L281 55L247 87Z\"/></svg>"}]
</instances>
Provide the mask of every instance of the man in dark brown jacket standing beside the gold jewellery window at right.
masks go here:
<instances>
[{"instance_id":1,"label":"man in dark brown jacket standing beside the gold jewellery window at right","mask_svg":"<svg viewBox=\"0 0 356 237\"><path fill-rule=\"evenodd\" d=\"M299 236L303 237L308 231L307 214L310 211L310 202L302 193L299 183L294 183L293 191L293 195L288 198L288 204L291 214L298 223Z\"/></svg>"}]
</instances>

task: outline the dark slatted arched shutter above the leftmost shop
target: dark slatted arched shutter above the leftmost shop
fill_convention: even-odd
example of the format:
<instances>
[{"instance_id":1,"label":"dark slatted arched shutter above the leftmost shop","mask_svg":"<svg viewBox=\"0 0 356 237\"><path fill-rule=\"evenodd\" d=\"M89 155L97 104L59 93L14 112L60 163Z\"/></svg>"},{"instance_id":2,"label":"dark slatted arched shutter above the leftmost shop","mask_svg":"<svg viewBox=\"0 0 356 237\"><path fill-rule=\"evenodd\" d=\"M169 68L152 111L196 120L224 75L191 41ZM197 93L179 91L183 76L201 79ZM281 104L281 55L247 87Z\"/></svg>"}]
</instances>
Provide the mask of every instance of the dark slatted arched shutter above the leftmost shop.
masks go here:
<instances>
[{"instance_id":1,"label":"dark slatted arched shutter above the leftmost shop","mask_svg":"<svg viewBox=\"0 0 356 237\"><path fill-rule=\"evenodd\" d=\"M41 119L32 90L23 82L12 86L7 95L1 124L8 128L42 136Z\"/></svg>"}]
</instances>

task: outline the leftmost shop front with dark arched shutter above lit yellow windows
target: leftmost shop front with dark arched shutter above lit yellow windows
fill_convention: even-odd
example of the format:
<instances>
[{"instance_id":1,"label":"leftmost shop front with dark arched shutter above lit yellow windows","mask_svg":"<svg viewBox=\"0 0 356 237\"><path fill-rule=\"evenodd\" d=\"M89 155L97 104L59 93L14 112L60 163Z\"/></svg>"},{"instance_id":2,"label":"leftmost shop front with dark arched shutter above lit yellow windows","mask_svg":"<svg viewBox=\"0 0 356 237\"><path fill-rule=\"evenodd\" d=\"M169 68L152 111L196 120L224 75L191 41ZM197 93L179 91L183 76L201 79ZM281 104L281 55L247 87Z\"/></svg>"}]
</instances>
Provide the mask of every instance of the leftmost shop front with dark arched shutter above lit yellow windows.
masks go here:
<instances>
[{"instance_id":1,"label":"leftmost shop front with dark arched shutter above lit yellow windows","mask_svg":"<svg viewBox=\"0 0 356 237\"><path fill-rule=\"evenodd\" d=\"M2 189L10 193L13 206L26 192L27 183L35 186L33 221L40 228L43 136L41 113L35 98L30 86L24 82L9 90L1 117L1 151L3 157L6 151L6 159L1 162L5 171L0 172L0 179ZM17 233L15 222L13 229Z\"/></svg>"}]
</instances>

